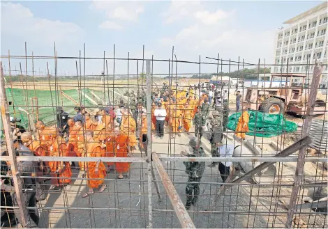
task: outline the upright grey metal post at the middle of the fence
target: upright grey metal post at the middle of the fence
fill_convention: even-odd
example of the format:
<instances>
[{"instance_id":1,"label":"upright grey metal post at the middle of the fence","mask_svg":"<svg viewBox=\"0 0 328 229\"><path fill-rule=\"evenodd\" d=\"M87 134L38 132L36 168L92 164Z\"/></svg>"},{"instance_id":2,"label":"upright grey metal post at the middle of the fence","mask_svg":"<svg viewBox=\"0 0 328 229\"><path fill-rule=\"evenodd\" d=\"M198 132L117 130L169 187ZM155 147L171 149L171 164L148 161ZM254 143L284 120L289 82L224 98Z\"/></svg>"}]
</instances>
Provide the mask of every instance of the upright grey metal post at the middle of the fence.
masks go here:
<instances>
[{"instance_id":1,"label":"upright grey metal post at the middle of the fence","mask_svg":"<svg viewBox=\"0 0 328 229\"><path fill-rule=\"evenodd\" d=\"M151 73L150 73L150 60L146 61L146 77L147 77L147 175L148 175L148 212L149 224L148 228L153 227L153 207L151 203Z\"/></svg>"}]
</instances>

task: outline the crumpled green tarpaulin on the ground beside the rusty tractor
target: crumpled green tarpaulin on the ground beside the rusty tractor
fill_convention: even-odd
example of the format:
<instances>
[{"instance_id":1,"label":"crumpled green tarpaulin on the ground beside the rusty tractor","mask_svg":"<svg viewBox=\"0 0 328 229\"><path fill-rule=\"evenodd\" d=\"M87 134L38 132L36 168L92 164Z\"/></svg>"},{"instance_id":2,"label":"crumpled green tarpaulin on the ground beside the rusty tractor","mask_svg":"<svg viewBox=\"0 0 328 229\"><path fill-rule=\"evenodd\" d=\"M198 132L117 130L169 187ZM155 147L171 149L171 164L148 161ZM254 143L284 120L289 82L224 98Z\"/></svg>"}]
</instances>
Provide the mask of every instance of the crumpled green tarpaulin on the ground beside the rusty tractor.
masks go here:
<instances>
[{"instance_id":1,"label":"crumpled green tarpaulin on the ground beside the rusty tractor","mask_svg":"<svg viewBox=\"0 0 328 229\"><path fill-rule=\"evenodd\" d=\"M260 111L247 112L249 114L247 135L271 137L284 132L295 132L297 129L296 123L285 120L282 114L269 114ZM241 112L237 112L229 117L228 129L236 129L240 116Z\"/></svg>"}]
</instances>

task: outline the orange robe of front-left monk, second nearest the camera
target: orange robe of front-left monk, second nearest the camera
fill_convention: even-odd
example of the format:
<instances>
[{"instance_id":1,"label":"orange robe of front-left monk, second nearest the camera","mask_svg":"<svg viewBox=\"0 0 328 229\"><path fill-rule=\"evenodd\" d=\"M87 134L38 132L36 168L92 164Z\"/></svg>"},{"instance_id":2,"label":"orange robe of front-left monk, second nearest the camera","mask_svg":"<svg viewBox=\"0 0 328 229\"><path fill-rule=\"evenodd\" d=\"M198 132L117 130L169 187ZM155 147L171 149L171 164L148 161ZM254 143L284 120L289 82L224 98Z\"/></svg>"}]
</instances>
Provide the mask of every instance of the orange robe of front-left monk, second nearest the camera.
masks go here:
<instances>
[{"instance_id":1,"label":"orange robe of front-left monk, second nearest the camera","mask_svg":"<svg viewBox=\"0 0 328 229\"><path fill-rule=\"evenodd\" d=\"M49 156L51 157L66 157L68 155L67 145L61 137L52 140L49 149ZM68 161L49 161L49 166L52 177L57 177L57 179L52 179L52 184L67 184L70 182L72 171ZM57 170L59 170L59 173L55 173Z\"/></svg>"}]
</instances>

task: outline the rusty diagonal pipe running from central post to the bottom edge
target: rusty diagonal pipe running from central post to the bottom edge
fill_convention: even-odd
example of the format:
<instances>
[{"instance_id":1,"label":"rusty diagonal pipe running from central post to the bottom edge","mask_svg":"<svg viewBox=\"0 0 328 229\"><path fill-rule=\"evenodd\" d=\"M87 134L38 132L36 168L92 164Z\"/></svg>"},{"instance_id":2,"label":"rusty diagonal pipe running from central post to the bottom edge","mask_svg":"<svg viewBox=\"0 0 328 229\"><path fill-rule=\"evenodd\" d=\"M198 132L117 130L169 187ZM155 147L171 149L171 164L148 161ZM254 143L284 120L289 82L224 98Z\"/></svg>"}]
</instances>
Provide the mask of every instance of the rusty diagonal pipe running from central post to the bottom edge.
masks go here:
<instances>
[{"instance_id":1,"label":"rusty diagonal pipe running from central post to the bottom edge","mask_svg":"<svg viewBox=\"0 0 328 229\"><path fill-rule=\"evenodd\" d=\"M169 196L172 206L174 208L175 214L177 214L178 219L181 223L182 228L195 228L193 221L191 220L191 216L189 216L186 207L184 207L184 203L182 203L177 190L174 188L170 177L165 172L165 168L161 163L161 160L156 155L156 152L153 152L152 158L155 161L155 165L158 171L159 176L163 181L163 186L165 187L167 196Z\"/></svg>"}]
</instances>

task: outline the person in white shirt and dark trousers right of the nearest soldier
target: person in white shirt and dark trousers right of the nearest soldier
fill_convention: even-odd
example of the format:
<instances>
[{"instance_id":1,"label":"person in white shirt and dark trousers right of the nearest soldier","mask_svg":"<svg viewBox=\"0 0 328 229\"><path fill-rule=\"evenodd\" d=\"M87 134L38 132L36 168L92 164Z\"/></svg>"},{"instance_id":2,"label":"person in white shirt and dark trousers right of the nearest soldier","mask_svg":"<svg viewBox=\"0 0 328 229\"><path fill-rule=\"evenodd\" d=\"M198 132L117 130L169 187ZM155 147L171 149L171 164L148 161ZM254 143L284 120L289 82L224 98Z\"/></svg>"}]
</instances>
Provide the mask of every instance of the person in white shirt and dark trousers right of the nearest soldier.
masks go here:
<instances>
[{"instance_id":1,"label":"person in white shirt and dark trousers right of the nearest soldier","mask_svg":"<svg viewBox=\"0 0 328 229\"><path fill-rule=\"evenodd\" d=\"M223 144L225 142L225 144ZM225 141L225 136L223 135L221 143L217 143L218 146L218 154L220 157L232 157L234 153L234 145L228 145ZM221 178L223 182L227 180L230 175L230 166L232 166L231 161L219 162L218 163L218 171L220 171Z\"/></svg>"}]
</instances>

